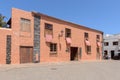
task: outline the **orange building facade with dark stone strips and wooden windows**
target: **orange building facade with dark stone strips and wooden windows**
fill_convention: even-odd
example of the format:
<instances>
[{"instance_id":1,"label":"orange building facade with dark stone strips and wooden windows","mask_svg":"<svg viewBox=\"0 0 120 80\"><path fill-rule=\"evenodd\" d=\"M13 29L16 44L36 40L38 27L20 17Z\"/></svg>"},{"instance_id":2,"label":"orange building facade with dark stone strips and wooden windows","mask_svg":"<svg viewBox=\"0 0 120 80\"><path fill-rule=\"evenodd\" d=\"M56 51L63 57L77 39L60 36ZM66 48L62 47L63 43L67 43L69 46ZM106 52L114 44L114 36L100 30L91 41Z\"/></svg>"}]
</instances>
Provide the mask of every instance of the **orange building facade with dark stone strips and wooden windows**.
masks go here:
<instances>
[{"instance_id":1,"label":"orange building facade with dark stone strips and wooden windows","mask_svg":"<svg viewBox=\"0 0 120 80\"><path fill-rule=\"evenodd\" d=\"M101 31L16 8L8 24L0 29L0 64L101 60Z\"/></svg>"}]
</instances>

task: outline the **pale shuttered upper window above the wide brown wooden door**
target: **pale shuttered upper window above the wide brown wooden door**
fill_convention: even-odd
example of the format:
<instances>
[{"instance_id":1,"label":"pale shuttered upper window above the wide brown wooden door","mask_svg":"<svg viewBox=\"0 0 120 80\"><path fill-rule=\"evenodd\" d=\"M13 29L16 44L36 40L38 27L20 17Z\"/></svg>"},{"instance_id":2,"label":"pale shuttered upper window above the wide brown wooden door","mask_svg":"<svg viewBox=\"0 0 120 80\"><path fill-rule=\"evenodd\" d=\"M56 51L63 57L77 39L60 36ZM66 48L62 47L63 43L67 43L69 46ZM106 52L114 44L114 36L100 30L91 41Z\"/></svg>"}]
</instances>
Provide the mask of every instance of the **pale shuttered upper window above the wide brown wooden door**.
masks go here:
<instances>
[{"instance_id":1,"label":"pale shuttered upper window above the wide brown wooden door","mask_svg":"<svg viewBox=\"0 0 120 80\"><path fill-rule=\"evenodd\" d=\"M21 29L20 29L21 31L24 31L24 32L30 32L31 31L31 28L30 28L31 22L30 22L30 20L21 18L20 25L21 25Z\"/></svg>"}]
</instances>

